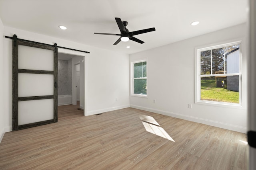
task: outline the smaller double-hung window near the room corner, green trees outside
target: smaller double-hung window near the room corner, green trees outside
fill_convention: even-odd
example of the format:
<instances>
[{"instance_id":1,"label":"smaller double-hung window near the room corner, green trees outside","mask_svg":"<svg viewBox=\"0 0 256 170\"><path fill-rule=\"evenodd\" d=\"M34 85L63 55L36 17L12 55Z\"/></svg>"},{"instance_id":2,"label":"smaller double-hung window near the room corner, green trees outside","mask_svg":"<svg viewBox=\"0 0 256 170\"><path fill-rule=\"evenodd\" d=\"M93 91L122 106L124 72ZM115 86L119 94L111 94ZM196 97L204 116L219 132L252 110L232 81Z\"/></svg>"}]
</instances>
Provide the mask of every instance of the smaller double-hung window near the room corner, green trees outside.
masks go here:
<instances>
[{"instance_id":1,"label":"smaller double-hung window near the room corner, green trees outside","mask_svg":"<svg viewBox=\"0 0 256 170\"><path fill-rule=\"evenodd\" d=\"M132 95L147 96L147 61L132 63Z\"/></svg>"}]
</instances>

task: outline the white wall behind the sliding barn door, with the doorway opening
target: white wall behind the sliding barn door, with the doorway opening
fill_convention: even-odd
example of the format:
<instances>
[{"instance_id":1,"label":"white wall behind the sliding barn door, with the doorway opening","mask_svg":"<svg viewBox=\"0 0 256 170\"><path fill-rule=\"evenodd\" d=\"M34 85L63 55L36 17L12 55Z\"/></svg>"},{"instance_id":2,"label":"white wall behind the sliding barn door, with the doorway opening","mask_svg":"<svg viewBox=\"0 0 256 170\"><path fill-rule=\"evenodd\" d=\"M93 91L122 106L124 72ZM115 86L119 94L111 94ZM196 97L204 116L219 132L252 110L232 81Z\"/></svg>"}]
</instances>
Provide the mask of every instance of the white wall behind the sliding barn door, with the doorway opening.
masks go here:
<instances>
[{"instance_id":1,"label":"white wall behind the sliding barn door, with the doorway opening","mask_svg":"<svg viewBox=\"0 0 256 170\"><path fill-rule=\"evenodd\" d=\"M90 54L58 48L58 52L85 57L87 115L129 107L129 56L81 43L4 27L4 35L47 44L89 51ZM12 130L12 41L4 38L4 128ZM116 98L118 101L116 102ZM1 113L2 114L2 113Z\"/></svg>"}]
</instances>

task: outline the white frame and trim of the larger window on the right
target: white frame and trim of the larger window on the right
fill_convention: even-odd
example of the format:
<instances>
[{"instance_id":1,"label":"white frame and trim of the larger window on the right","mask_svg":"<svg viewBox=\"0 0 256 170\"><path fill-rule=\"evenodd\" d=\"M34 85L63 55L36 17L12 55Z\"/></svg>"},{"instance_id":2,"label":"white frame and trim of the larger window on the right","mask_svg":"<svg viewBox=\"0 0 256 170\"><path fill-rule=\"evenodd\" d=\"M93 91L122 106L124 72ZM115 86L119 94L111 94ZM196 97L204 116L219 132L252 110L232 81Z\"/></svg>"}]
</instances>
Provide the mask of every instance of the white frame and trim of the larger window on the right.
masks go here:
<instances>
[{"instance_id":1,"label":"white frame and trim of the larger window on the right","mask_svg":"<svg viewBox=\"0 0 256 170\"><path fill-rule=\"evenodd\" d=\"M239 52L240 52L240 66L239 66L239 73L238 74L209 74L209 75L201 75L201 51L211 50L211 49L218 49L222 47L228 47L232 45L239 44ZM207 47L197 47L195 48L195 68L196 68L196 76L195 76L195 103L196 104L204 104L204 105L211 105L211 106L221 106L221 107L232 107L232 108L244 108L243 101L244 101L244 81L242 82L242 70L244 69L242 66L242 41L233 41L231 43L222 43L219 45L212 45ZM235 103L228 103L228 102L215 102L215 101L206 101L201 100L201 77L206 76L239 76L239 104Z\"/></svg>"}]
</instances>

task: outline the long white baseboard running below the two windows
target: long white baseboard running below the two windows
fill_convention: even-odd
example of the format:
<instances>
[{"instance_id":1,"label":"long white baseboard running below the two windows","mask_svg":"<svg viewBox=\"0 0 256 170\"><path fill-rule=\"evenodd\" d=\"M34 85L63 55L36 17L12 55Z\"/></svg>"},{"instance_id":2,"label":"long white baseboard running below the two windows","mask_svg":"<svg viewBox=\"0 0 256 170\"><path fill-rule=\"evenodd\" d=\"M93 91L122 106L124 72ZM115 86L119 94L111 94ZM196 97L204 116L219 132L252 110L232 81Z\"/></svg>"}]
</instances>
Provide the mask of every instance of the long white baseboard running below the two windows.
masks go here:
<instances>
[{"instance_id":1,"label":"long white baseboard running below the two windows","mask_svg":"<svg viewBox=\"0 0 256 170\"><path fill-rule=\"evenodd\" d=\"M208 119L202 119L202 118L199 118L199 117L182 115L182 114L173 113L173 112L170 112L170 111L152 109L152 108L149 108L149 107L141 107L141 106L136 106L136 105L130 105L130 107L135 108L135 109L150 111L150 112L154 112L154 113L159 113L159 114L167 115L167 116L171 116L171 117L176 117L176 118L184 119L184 120L188 120L188 121L194 121L194 122L202 123L202 124L205 124L205 125L220 127L220 128L228 129L228 130L231 130L231 131L247 133L247 127L232 125L232 124L218 122L218 121L212 121L212 120L208 120Z\"/></svg>"}]
</instances>

